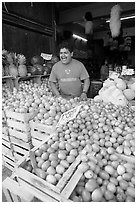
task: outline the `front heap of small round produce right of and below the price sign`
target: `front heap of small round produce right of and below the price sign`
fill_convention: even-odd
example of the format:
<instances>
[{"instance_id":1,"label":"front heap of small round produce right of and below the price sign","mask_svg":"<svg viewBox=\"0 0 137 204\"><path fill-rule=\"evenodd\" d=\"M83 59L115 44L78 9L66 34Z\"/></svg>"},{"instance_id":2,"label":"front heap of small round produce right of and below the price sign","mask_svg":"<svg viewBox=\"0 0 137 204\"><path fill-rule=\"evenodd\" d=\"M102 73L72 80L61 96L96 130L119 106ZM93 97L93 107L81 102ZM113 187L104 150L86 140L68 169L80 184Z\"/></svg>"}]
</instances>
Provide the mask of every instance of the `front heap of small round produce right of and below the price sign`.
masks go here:
<instances>
[{"instance_id":1,"label":"front heap of small round produce right of and below the price sign","mask_svg":"<svg viewBox=\"0 0 137 204\"><path fill-rule=\"evenodd\" d=\"M89 99L75 119L57 128L57 134L35 151L37 173L57 184L80 155L83 173L70 199L76 202L135 200L135 121L130 107ZM82 151L84 152L82 153ZM128 156L122 159L119 155ZM34 173L31 163L24 167Z\"/></svg>"}]
</instances>

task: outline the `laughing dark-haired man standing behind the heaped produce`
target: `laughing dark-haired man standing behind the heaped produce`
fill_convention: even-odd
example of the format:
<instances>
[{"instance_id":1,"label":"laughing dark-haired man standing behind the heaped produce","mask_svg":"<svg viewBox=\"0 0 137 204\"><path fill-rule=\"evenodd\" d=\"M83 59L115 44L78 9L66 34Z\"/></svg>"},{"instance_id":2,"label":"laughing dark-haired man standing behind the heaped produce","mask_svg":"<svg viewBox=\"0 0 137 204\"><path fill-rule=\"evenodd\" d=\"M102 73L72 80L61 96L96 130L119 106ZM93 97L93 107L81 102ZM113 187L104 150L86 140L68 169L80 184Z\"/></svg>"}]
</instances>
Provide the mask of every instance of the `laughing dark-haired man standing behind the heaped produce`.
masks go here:
<instances>
[{"instance_id":1,"label":"laughing dark-haired man standing behind the heaped produce","mask_svg":"<svg viewBox=\"0 0 137 204\"><path fill-rule=\"evenodd\" d=\"M81 62L72 58L73 49L70 43L63 42L59 49L60 61L54 64L49 77L53 94L68 99L73 97L85 99L90 85L86 68Z\"/></svg>"}]
</instances>

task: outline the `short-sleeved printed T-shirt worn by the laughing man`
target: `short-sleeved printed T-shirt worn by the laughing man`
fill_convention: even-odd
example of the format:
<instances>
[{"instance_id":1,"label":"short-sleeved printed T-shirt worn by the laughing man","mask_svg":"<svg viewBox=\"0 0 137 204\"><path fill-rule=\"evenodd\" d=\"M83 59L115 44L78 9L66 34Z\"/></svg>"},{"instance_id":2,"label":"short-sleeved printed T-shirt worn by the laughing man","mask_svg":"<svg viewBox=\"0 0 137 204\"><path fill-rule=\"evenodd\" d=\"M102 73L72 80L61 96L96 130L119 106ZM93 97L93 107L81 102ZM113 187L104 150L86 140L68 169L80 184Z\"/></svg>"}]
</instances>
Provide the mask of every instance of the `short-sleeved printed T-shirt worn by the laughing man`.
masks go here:
<instances>
[{"instance_id":1,"label":"short-sleeved printed T-shirt worn by the laughing man","mask_svg":"<svg viewBox=\"0 0 137 204\"><path fill-rule=\"evenodd\" d=\"M82 92L82 80L89 78L84 65L78 60L72 59L69 64L61 61L54 64L49 81L58 82L61 94L68 96L80 96Z\"/></svg>"}]
</instances>

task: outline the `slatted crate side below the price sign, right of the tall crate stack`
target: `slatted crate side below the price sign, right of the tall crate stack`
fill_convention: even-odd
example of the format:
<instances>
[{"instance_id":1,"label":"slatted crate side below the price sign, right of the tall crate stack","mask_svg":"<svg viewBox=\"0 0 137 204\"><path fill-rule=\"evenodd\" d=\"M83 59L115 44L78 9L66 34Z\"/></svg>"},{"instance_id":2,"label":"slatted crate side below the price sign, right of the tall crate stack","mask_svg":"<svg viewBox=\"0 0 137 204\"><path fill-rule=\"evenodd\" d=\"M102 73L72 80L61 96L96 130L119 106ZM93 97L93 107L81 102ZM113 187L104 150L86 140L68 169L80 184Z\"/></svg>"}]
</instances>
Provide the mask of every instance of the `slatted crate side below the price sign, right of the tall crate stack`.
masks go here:
<instances>
[{"instance_id":1,"label":"slatted crate side below the price sign, right of the tall crate stack","mask_svg":"<svg viewBox=\"0 0 137 204\"><path fill-rule=\"evenodd\" d=\"M35 147L41 144L41 141L45 140L46 137L56 131L56 127L48 126L40 123L29 122L31 129L32 145Z\"/></svg>"}]
</instances>

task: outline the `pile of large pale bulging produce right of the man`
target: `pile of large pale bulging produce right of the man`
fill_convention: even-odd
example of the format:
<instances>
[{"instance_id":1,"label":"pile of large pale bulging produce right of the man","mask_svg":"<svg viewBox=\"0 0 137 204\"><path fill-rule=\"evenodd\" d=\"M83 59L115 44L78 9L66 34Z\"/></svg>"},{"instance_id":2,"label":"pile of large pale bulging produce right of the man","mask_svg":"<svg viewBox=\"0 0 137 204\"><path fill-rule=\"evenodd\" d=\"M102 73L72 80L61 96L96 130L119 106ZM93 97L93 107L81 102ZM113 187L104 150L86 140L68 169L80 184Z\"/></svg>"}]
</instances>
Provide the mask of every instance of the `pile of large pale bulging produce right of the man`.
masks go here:
<instances>
[{"instance_id":1,"label":"pile of large pale bulging produce right of the man","mask_svg":"<svg viewBox=\"0 0 137 204\"><path fill-rule=\"evenodd\" d=\"M124 77L114 73L104 81L99 95L95 96L95 100L121 106L126 106L133 99L135 99L135 78L130 77L129 80L125 80Z\"/></svg>"}]
</instances>

